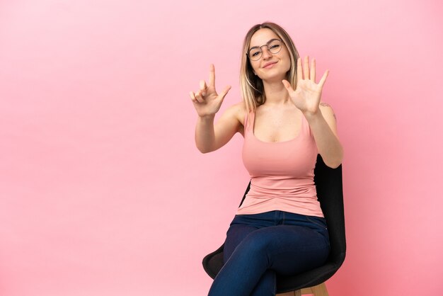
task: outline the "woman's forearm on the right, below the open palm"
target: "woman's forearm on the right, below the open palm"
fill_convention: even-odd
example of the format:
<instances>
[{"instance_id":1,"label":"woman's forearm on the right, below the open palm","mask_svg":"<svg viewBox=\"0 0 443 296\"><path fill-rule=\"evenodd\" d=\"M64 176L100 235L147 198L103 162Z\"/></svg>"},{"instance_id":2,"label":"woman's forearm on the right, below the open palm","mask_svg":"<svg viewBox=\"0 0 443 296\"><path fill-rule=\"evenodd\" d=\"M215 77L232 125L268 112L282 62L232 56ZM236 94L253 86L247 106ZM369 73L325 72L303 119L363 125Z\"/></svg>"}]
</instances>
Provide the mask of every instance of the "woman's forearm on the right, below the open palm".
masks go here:
<instances>
[{"instance_id":1,"label":"woman's forearm on the right, below the open palm","mask_svg":"<svg viewBox=\"0 0 443 296\"><path fill-rule=\"evenodd\" d=\"M333 169L340 166L343 161L343 147L321 112L315 115L305 115L305 117L316 140L318 153L321 154L325 164Z\"/></svg>"}]
</instances>

